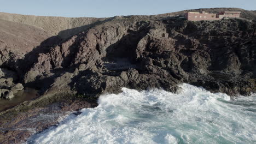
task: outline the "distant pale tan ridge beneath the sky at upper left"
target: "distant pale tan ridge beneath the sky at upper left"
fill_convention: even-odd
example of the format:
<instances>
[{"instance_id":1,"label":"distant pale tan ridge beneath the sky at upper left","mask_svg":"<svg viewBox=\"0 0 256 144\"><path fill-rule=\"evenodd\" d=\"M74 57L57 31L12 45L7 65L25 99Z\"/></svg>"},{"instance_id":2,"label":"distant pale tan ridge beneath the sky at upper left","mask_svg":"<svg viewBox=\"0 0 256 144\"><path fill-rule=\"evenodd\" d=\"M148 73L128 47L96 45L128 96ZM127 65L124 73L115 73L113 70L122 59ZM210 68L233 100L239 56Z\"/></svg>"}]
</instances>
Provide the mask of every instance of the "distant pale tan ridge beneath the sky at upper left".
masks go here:
<instances>
[{"instance_id":1,"label":"distant pale tan ridge beneath the sky at upper left","mask_svg":"<svg viewBox=\"0 0 256 144\"><path fill-rule=\"evenodd\" d=\"M84 29L86 29L86 27L84 26L86 25L90 25L91 23L95 23L97 21L105 20L105 18L98 19L94 17L72 18L57 16L20 15L9 13L0 13L0 19L42 28L44 29L44 31L52 35L59 35L63 39L81 31L84 31ZM64 31L66 29L71 29L71 31L60 33L61 31Z\"/></svg>"}]
</instances>

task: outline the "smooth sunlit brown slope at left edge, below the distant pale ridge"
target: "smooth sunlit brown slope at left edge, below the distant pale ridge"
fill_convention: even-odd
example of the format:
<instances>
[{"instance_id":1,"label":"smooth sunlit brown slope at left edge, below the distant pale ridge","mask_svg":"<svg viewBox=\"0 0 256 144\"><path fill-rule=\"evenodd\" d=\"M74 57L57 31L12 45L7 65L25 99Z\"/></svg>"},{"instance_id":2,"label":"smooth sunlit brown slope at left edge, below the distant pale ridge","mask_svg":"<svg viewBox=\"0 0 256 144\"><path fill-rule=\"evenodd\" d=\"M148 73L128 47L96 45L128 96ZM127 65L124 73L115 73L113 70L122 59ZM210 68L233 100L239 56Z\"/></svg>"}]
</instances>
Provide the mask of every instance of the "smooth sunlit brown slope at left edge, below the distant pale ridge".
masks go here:
<instances>
[{"instance_id":1,"label":"smooth sunlit brown slope at left edge, below the distant pale ridge","mask_svg":"<svg viewBox=\"0 0 256 144\"><path fill-rule=\"evenodd\" d=\"M1 59L7 60L10 52L14 55L19 53L17 56L22 57L51 36L41 28L0 19L0 51L3 55ZM2 64L2 61L0 63Z\"/></svg>"}]
</instances>

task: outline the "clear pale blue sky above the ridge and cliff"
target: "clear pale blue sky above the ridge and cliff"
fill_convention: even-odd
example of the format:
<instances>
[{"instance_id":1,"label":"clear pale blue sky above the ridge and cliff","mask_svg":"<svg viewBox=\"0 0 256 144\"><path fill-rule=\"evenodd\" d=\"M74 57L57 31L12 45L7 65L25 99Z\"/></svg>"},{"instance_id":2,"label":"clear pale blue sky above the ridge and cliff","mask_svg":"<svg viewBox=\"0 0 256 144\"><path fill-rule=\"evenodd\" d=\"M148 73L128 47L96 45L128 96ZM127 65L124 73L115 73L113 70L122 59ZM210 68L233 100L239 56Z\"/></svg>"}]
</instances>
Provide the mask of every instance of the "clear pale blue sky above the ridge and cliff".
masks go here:
<instances>
[{"instance_id":1,"label":"clear pale blue sky above the ridge and cliff","mask_svg":"<svg viewBox=\"0 0 256 144\"><path fill-rule=\"evenodd\" d=\"M0 12L65 17L153 15L216 7L256 10L256 0L0 0Z\"/></svg>"}]
</instances>

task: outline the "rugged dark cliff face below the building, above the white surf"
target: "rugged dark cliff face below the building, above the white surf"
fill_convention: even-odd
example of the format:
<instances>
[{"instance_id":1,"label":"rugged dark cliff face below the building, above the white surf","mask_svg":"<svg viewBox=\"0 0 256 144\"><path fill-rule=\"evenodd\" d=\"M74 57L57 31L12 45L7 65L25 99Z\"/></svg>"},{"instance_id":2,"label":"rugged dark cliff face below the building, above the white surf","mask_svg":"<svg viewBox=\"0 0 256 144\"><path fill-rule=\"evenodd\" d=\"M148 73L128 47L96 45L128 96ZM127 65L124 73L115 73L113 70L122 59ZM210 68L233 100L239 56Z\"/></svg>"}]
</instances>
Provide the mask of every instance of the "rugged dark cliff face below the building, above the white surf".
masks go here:
<instances>
[{"instance_id":1,"label":"rugged dark cliff face below the building, above the white surf","mask_svg":"<svg viewBox=\"0 0 256 144\"><path fill-rule=\"evenodd\" d=\"M244 16L251 13L243 11ZM66 40L45 39L22 57L15 58L21 53L14 51L1 60L19 82L45 94L86 97L117 93L120 87L177 92L177 85L187 82L248 95L255 92L255 29L255 21L240 19L116 16Z\"/></svg>"}]
</instances>

